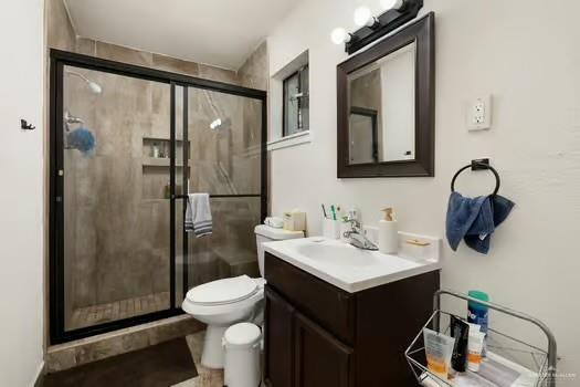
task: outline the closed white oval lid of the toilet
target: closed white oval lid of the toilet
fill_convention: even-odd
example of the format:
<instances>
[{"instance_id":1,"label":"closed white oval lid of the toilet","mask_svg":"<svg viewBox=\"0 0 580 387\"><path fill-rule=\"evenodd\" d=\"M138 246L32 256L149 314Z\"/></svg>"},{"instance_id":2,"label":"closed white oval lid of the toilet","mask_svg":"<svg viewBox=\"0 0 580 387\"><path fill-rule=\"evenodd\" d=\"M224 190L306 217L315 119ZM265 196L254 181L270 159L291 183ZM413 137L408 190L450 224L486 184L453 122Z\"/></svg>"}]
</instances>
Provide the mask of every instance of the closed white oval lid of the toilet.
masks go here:
<instances>
[{"instance_id":1,"label":"closed white oval lid of the toilet","mask_svg":"<svg viewBox=\"0 0 580 387\"><path fill-rule=\"evenodd\" d=\"M222 305L245 300L254 295L259 286L247 275L204 283L190 290L187 299L200 305Z\"/></svg>"}]
</instances>

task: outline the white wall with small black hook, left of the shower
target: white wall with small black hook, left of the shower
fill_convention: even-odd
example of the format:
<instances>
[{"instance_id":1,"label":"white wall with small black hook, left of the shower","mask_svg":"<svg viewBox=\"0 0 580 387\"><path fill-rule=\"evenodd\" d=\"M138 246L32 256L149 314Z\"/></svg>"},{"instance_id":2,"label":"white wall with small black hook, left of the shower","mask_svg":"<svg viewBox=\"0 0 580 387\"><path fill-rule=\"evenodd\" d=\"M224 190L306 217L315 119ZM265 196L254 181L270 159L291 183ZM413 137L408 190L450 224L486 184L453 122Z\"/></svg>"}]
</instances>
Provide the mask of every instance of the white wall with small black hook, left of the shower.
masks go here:
<instances>
[{"instance_id":1,"label":"white wall with small black hook, left of the shower","mask_svg":"<svg viewBox=\"0 0 580 387\"><path fill-rule=\"evenodd\" d=\"M0 12L0 386L32 386L43 356L43 7Z\"/></svg>"}]
</instances>

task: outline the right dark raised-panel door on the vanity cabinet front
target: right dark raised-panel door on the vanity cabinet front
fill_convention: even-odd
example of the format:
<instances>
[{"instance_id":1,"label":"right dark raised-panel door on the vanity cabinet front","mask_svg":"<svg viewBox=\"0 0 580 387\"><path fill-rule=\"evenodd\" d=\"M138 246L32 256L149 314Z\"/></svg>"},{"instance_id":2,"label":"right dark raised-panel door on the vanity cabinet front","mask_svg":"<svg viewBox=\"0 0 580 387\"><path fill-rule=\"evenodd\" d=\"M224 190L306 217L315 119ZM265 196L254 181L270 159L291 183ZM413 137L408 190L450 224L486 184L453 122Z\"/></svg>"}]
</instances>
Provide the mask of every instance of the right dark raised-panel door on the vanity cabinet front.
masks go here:
<instances>
[{"instance_id":1,"label":"right dark raised-panel door on the vanity cabinet front","mask_svg":"<svg viewBox=\"0 0 580 387\"><path fill-rule=\"evenodd\" d=\"M295 314L295 387L351 387L352 348Z\"/></svg>"}]
</instances>

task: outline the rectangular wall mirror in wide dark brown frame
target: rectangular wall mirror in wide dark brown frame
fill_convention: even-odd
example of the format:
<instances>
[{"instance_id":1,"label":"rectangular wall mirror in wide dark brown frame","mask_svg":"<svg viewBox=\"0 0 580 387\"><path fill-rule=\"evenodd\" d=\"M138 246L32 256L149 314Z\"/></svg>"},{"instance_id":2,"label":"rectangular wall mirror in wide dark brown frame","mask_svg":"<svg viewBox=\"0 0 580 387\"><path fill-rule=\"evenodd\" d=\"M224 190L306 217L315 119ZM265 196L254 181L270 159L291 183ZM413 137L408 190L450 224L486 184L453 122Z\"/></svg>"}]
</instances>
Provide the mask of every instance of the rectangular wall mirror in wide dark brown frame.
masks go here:
<instances>
[{"instance_id":1,"label":"rectangular wall mirror in wide dark brown frame","mask_svg":"<svg viewBox=\"0 0 580 387\"><path fill-rule=\"evenodd\" d=\"M434 14L337 67L338 177L434 176Z\"/></svg>"}]
</instances>

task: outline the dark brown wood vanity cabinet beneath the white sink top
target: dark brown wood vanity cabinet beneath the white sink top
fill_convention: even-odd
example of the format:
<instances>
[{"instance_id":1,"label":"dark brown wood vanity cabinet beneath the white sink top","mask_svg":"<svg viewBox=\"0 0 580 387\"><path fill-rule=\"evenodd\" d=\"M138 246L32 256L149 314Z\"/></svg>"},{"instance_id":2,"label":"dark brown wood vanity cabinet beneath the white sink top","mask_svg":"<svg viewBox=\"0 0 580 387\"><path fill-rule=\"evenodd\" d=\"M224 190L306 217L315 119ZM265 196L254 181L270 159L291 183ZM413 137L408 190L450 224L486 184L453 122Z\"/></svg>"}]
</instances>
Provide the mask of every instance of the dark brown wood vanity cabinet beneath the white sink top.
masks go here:
<instances>
[{"instance_id":1,"label":"dark brown wood vanity cabinet beneath the white sink top","mask_svg":"<svg viewBox=\"0 0 580 387\"><path fill-rule=\"evenodd\" d=\"M430 317L439 272L348 293L265 257L270 387L405 387L407 346Z\"/></svg>"}]
</instances>

